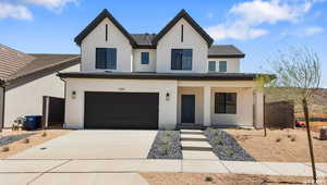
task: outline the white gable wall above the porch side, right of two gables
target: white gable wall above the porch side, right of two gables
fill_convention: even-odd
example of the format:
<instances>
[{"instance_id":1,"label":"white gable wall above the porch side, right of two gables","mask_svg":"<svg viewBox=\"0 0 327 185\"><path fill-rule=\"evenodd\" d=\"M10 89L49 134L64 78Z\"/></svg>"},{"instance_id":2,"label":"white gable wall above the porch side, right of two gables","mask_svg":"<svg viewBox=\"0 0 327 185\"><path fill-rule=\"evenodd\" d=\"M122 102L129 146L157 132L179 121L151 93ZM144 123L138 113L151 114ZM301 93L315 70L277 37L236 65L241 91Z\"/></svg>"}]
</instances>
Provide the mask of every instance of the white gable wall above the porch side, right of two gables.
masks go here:
<instances>
[{"instance_id":1,"label":"white gable wall above the porch side, right of two gables","mask_svg":"<svg viewBox=\"0 0 327 185\"><path fill-rule=\"evenodd\" d=\"M181 41L181 25L184 25L184 39ZM171 49L192 49L192 71L171 70ZM204 38L184 20L181 18L157 45L158 73L205 73L207 72L208 45Z\"/></svg>"}]
</instances>

